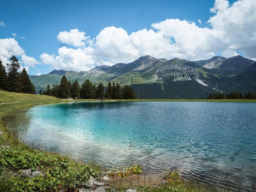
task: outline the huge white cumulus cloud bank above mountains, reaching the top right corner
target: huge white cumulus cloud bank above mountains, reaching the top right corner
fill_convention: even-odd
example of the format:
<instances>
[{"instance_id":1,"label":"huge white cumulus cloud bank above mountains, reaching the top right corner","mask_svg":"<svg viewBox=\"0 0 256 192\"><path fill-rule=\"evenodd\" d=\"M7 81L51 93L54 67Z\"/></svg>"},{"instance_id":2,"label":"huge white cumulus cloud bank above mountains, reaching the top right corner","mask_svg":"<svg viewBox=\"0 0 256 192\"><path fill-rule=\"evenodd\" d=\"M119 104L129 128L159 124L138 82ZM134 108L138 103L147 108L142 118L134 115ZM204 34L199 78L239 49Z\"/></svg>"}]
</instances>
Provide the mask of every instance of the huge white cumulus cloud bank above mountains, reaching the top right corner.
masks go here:
<instances>
[{"instance_id":1,"label":"huge white cumulus cloud bank above mountains, reaching the top right corner","mask_svg":"<svg viewBox=\"0 0 256 192\"><path fill-rule=\"evenodd\" d=\"M231 57L238 52L256 58L255 0L216 0L210 9L209 27L199 27L189 20L166 19L155 22L152 29L127 33L123 28L106 27L95 38L72 29L59 32L61 47L58 55L44 53L43 63L56 69L89 70L95 65L129 63L139 56L155 58L208 59L221 53ZM199 25L202 21L198 19Z\"/></svg>"}]
</instances>

